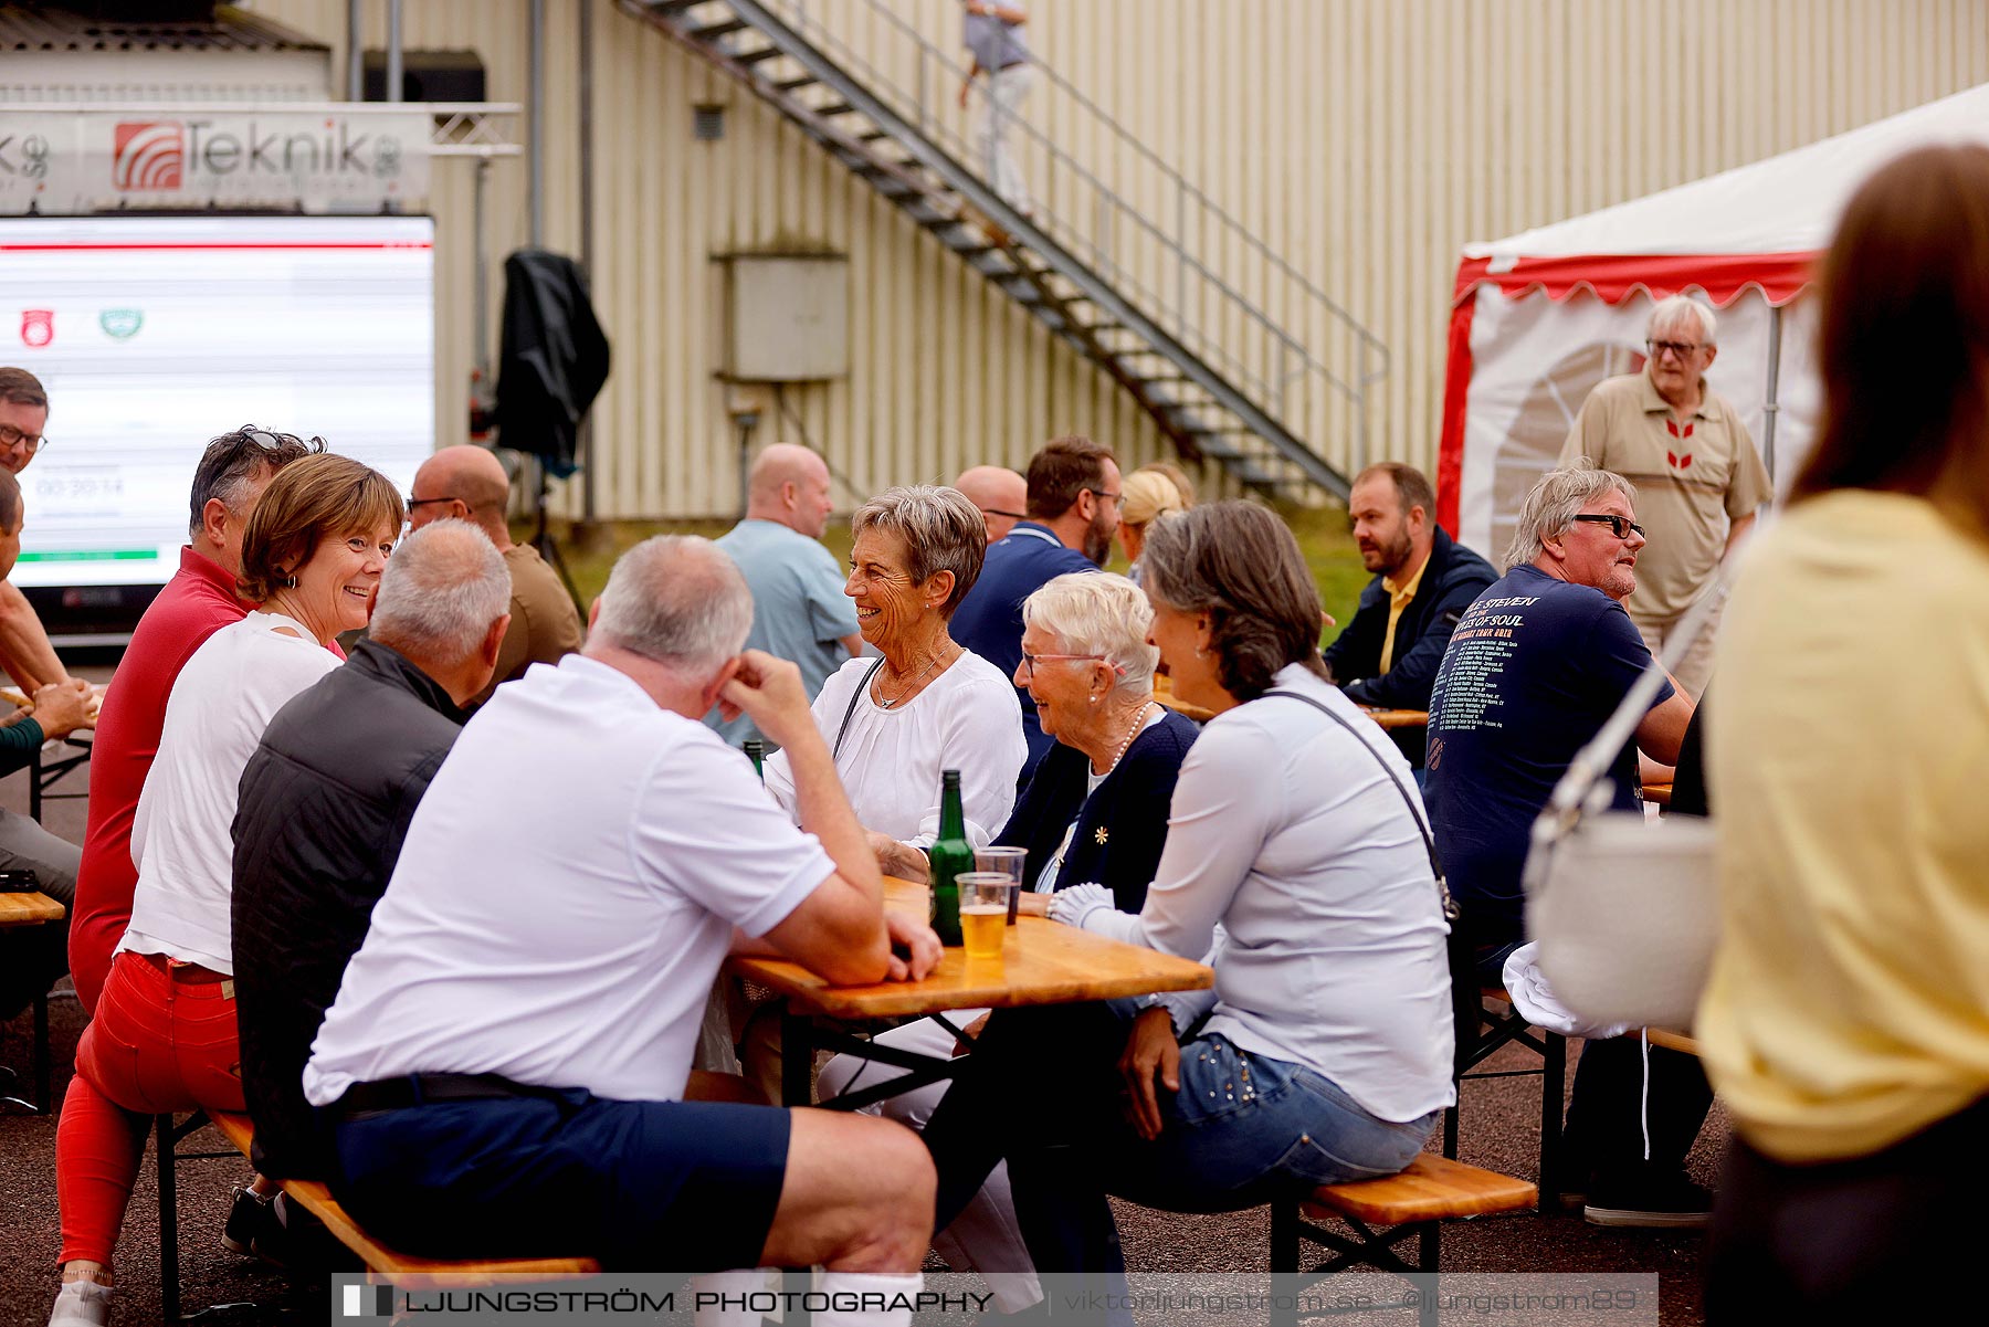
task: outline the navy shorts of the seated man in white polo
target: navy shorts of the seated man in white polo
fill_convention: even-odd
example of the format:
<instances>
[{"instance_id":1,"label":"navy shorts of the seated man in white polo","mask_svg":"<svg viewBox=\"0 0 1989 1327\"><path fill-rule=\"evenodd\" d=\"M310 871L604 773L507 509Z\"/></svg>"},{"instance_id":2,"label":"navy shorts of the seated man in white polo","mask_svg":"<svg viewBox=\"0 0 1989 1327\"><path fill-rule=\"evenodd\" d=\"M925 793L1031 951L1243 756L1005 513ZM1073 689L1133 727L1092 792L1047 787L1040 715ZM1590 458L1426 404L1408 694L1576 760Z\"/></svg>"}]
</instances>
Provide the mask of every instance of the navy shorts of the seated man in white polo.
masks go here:
<instances>
[{"instance_id":1,"label":"navy shorts of the seated man in white polo","mask_svg":"<svg viewBox=\"0 0 1989 1327\"><path fill-rule=\"evenodd\" d=\"M338 1202L422 1257L754 1267L788 1170L786 1110L587 1092L434 1102L336 1124Z\"/></svg>"}]
</instances>

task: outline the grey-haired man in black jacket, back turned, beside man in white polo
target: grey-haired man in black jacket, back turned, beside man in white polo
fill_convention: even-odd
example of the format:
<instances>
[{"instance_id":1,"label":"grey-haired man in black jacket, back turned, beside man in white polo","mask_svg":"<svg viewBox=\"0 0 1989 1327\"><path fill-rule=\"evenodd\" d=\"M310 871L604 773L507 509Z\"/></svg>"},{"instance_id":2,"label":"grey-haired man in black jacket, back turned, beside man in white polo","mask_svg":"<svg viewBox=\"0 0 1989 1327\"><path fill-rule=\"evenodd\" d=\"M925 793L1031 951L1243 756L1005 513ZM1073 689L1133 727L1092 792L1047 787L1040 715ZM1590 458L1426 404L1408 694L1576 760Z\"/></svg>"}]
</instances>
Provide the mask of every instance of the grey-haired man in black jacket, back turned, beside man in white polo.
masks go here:
<instances>
[{"instance_id":1,"label":"grey-haired man in black jacket, back turned, beside man in white polo","mask_svg":"<svg viewBox=\"0 0 1989 1327\"><path fill-rule=\"evenodd\" d=\"M394 549L366 641L276 710L235 814L235 999L255 1164L318 1180L332 1166L304 1100L310 1039L408 822L461 730L463 700L497 663L511 573L467 521L434 521Z\"/></svg>"}]
</instances>

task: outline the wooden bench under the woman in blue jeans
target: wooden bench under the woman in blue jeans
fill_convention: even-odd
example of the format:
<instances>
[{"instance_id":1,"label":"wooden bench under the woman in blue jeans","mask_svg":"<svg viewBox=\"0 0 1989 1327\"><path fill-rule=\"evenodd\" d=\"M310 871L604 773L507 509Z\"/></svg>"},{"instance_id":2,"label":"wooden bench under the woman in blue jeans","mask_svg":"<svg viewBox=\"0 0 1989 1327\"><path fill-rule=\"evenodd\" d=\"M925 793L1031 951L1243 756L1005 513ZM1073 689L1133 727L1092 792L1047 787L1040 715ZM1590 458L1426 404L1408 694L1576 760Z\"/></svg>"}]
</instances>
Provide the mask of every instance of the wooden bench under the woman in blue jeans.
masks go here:
<instances>
[{"instance_id":1,"label":"wooden bench under the woman in blue jeans","mask_svg":"<svg viewBox=\"0 0 1989 1327\"><path fill-rule=\"evenodd\" d=\"M1271 1271L1299 1273L1307 1281L1360 1265L1404 1275L1434 1273L1442 1253L1442 1222L1522 1212L1537 1204L1539 1190L1526 1180L1424 1152L1398 1176L1323 1184L1311 1198L1271 1204ZM1355 1237L1317 1224L1329 1218L1351 1226ZM1394 1253L1394 1245L1408 1235L1422 1235L1414 1265ZM1333 1249L1335 1257L1307 1271L1301 1265L1307 1241ZM1426 1327L1436 1323L1438 1301L1432 1289L1430 1283L1422 1285L1416 1301L1418 1321ZM1285 1321L1293 1319L1287 1315Z\"/></svg>"}]
</instances>

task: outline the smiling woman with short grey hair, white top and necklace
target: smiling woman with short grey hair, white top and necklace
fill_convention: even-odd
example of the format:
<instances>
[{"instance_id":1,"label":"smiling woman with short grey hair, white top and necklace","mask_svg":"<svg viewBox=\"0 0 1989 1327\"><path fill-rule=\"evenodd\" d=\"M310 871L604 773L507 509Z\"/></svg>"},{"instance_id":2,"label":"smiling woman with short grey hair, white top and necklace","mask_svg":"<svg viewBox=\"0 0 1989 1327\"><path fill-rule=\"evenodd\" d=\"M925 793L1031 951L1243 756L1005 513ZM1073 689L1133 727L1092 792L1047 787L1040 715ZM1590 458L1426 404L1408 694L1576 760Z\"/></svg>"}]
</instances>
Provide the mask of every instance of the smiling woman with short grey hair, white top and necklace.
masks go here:
<instances>
[{"instance_id":1,"label":"smiling woman with short grey hair, white top and necklace","mask_svg":"<svg viewBox=\"0 0 1989 1327\"><path fill-rule=\"evenodd\" d=\"M857 631L881 659L851 659L815 696L815 728L887 875L925 877L939 838L941 770L961 772L967 836L987 844L1014 808L1028 754L1014 686L963 649L947 621L981 575L987 525L959 489L889 487L851 517L849 583ZM794 776L776 752L766 786L794 810Z\"/></svg>"}]
</instances>

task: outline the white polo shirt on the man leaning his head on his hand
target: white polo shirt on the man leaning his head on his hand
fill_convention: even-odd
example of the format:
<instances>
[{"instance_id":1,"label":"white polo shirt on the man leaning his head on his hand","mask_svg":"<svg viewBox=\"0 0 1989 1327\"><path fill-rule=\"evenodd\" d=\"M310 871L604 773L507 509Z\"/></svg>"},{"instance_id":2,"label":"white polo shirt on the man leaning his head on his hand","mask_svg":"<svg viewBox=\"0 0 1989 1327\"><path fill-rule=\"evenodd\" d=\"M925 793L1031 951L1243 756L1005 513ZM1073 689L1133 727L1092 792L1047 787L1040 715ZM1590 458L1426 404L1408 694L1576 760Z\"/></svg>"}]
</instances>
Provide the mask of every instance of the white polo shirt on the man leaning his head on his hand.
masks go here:
<instances>
[{"instance_id":1,"label":"white polo shirt on the man leaning his head on his hand","mask_svg":"<svg viewBox=\"0 0 1989 1327\"><path fill-rule=\"evenodd\" d=\"M732 927L833 871L710 728L583 655L533 664L428 786L304 1096L455 1072L678 1100Z\"/></svg>"}]
</instances>

